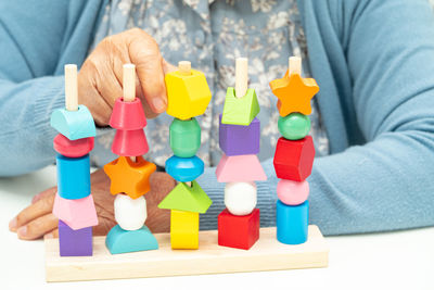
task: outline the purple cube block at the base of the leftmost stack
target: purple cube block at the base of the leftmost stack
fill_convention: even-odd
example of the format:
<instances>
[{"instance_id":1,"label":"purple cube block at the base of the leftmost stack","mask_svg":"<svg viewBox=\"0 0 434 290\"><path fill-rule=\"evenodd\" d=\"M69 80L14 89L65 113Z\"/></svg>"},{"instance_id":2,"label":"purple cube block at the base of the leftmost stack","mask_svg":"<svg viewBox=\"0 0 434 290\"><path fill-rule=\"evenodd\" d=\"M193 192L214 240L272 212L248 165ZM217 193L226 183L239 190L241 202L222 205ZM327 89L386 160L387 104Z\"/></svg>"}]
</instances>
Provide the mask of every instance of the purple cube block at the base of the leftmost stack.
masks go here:
<instances>
[{"instance_id":1,"label":"purple cube block at the base of the leftmost stack","mask_svg":"<svg viewBox=\"0 0 434 290\"><path fill-rule=\"evenodd\" d=\"M61 256L92 255L92 227L74 230L59 220L59 248Z\"/></svg>"}]
</instances>

